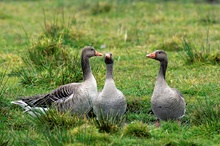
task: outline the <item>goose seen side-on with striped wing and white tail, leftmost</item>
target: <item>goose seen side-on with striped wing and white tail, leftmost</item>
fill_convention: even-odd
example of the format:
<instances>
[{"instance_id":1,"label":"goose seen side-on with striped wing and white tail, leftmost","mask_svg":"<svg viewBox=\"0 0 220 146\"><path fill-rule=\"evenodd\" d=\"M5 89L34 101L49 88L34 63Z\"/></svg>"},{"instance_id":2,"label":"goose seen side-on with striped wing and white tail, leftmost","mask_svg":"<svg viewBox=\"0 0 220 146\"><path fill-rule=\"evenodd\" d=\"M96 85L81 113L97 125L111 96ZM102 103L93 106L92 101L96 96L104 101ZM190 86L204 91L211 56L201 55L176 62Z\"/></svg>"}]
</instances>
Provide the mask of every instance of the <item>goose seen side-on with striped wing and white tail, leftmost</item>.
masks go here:
<instances>
[{"instance_id":1,"label":"goose seen side-on with striped wing and white tail, leftmost","mask_svg":"<svg viewBox=\"0 0 220 146\"><path fill-rule=\"evenodd\" d=\"M72 115L87 114L92 108L93 101L98 97L97 83L89 64L89 58L93 56L102 54L90 46L82 49L81 65L84 79L82 83L69 83L49 94L25 97L11 103L21 106L31 115L34 114L32 110L46 111L50 106L60 112L69 111Z\"/></svg>"}]
</instances>

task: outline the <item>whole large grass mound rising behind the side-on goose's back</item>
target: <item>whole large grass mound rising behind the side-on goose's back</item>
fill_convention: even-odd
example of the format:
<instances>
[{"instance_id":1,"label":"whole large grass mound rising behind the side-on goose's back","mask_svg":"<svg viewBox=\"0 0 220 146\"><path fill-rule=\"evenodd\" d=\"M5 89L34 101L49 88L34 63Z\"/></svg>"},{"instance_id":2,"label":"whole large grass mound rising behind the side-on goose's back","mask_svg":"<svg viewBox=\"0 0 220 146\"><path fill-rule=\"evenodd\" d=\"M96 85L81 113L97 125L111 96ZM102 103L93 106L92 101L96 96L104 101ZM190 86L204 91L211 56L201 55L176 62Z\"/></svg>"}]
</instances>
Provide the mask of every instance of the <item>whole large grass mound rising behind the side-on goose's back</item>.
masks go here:
<instances>
[{"instance_id":1,"label":"whole large grass mound rising behind the side-on goose's back","mask_svg":"<svg viewBox=\"0 0 220 146\"><path fill-rule=\"evenodd\" d=\"M73 37L69 25L45 24L44 33L36 41L29 41L28 55L22 57L25 66L17 71L22 84L57 86L81 81L79 50L66 45Z\"/></svg>"}]
</instances>

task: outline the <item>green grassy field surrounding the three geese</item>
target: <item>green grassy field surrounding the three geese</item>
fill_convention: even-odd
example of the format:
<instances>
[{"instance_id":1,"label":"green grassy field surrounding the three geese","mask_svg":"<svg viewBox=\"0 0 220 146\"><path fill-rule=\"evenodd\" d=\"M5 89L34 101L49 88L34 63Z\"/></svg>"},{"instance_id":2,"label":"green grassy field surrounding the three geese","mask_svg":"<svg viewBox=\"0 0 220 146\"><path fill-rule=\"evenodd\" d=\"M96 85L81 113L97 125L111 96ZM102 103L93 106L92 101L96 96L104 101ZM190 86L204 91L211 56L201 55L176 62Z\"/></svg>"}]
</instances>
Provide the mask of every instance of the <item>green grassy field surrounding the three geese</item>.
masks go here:
<instances>
[{"instance_id":1,"label":"green grassy field surrounding the three geese","mask_svg":"<svg viewBox=\"0 0 220 146\"><path fill-rule=\"evenodd\" d=\"M197 1L198 2L198 1ZM220 145L220 5L173 1L1 1L0 145ZM32 118L10 104L82 81L80 50L112 52L116 86L127 98L122 127L103 132L93 118L56 111ZM154 125L150 98L159 63L187 102L182 125ZM103 58L92 58L98 89Z\"/></svg>"}]
</instances>

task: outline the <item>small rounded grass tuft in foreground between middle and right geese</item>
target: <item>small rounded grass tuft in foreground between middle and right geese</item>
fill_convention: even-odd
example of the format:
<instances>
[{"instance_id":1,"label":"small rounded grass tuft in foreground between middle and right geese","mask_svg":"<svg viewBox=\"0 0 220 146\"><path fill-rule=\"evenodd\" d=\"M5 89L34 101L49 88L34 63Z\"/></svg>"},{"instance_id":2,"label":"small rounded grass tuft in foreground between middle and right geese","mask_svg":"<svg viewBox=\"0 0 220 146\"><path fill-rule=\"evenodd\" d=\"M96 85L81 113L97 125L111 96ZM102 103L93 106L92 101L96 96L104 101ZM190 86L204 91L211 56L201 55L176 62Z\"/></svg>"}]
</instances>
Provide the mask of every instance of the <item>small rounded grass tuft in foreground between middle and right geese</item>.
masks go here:
<instances>
[{"instance_id":1,"label":"small rounded grass tuft in foreground between middle and right geese","mask_svg":"<svg viewBox=\"0 0 220 146\"><path fill-rule=\"evenodd\" d=\"M150 138L150 131L147 124L141 121L133 121L127 124L123 130L127 136L135 136L139 138Z\"/></svg>"}]
</instances>

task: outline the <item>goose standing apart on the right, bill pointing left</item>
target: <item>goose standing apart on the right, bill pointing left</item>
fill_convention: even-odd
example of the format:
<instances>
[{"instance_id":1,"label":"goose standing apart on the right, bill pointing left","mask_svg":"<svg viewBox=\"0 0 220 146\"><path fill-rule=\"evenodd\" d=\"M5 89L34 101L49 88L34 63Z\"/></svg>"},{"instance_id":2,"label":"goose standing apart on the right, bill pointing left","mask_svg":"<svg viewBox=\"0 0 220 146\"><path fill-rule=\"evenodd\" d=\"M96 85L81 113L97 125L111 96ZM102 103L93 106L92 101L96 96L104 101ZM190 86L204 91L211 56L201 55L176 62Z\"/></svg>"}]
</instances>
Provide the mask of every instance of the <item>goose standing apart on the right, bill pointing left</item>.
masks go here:
<instances>
[{"instance_id":1,"label":"goose standing apart on the right, bill pointing left","mask_svg":"<svg viewBox=\"0 0 220 146\"><path fill-rule=\"evenodd\" d=\"M148 54L147 57L160 61L160 70L151 97L151 108L157 117L156 126L160 126L159 119L178 120L180 124L180 119L186 111L186 103L181 93L175 88L170 88L166 83L167 54L157 50Z\"/></svg>"}]
</instances>

